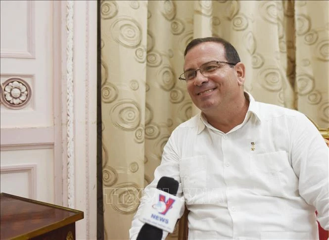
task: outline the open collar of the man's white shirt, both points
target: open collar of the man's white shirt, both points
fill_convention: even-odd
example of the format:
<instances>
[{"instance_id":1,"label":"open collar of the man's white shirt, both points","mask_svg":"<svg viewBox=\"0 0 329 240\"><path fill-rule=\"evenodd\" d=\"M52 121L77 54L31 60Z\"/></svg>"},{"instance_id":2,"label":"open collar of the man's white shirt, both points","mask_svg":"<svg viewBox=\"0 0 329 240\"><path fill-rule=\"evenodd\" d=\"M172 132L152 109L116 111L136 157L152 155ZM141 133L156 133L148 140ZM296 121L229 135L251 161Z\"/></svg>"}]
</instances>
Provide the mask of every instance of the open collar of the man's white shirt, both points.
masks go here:
<instances>
[{"instance_id":1,"label":"open collar of the man's white shirt, both points","mask_svg":"<svg viewBox=\"0 0 329 240\"><path fill-rule=\"evenodd\" d=\"M251 96L251 94L249 94L248 92L244 92L244 96L247 98L247 100L249 100L249 107L248 107L247 114L246 114L245 119L242 124L244 124L251 115L254 115L256 120L261 122L260 112L258 109L257 102L255 101L253 96ZM205 127L210 128L211 125L207 122L206 118L204 117L203 113L201 112L201 113L199 113L197 134L201 133L205 129Z\"/></svg>"}]
</instances>

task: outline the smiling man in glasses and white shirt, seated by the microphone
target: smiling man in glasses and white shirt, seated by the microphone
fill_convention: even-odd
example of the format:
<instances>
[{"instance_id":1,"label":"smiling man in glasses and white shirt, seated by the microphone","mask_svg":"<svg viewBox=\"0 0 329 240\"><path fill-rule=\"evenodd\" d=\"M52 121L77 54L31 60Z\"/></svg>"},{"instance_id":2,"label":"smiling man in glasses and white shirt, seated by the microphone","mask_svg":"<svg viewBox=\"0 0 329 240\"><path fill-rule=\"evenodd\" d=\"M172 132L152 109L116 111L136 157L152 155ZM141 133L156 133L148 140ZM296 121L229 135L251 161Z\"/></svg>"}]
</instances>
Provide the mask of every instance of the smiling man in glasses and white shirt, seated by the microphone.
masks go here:
<instances>
[{"instance_id":1,"label":"smiling man in glasses and white shirt, seated by the microphone","mask_svg":"<svg viewBox=\"0 0 329 240\"><path fill-rule=\"evenodd\" d=\"M173 131L146 189L163 176L179 182L188 238L319 239L317 220L329 229L329 149L316 127L244 92L245 66L223 39L192 40L180 79L201 113Z\"/></svg>"}]
</instances>

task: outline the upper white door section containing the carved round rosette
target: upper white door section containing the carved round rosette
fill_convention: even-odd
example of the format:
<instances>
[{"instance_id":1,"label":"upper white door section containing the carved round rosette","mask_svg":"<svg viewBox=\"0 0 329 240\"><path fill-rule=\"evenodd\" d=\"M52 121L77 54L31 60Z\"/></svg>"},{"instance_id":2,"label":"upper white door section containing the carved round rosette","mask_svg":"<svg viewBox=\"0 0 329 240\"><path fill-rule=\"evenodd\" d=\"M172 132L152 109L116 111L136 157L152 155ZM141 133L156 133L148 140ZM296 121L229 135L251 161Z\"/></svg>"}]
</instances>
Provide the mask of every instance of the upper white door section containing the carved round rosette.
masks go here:
<instances>
[{"instance_id":1,"label":"upper white door section containing the carved round rosette","mask_svg":"<svg viewBox=\"0 0 329 240\"><path fill-rule=\"evenodd\" d=\"M1 129L54 125L52 4L1 1Z\"/></svg>"}]
</instances>

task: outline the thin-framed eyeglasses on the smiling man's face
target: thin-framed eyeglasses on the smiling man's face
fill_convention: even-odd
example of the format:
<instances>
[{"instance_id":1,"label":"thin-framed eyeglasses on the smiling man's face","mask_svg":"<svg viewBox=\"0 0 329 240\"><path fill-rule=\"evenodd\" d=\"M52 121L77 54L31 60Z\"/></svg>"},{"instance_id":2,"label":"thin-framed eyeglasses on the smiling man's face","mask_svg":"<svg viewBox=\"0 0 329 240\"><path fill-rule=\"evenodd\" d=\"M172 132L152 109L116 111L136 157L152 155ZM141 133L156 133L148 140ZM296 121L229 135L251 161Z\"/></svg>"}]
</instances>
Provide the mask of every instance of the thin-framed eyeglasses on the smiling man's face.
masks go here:
<instances>
[{"instance_id":1,"label":"thin-framed eyeglasses on the smiling man's face","mask_svg":"<svg viewBox=\"0 0 329 240\"><path fill-rule=\"evenodd\" d=\"M179 80L193 80L196 77L196 71L200 70L200 73L205 76L209 77L215 70L218 68L221 68L223 65L220 63L226 63L230 65L236 65L236 63L232 62L224 62L224 61L211 61L211 62L206 62L200 66L200 68L194 70L190 69L188 71L185 71L184 73L181 74L181 76L178 78Z\"/></svg>"}]
</instances>

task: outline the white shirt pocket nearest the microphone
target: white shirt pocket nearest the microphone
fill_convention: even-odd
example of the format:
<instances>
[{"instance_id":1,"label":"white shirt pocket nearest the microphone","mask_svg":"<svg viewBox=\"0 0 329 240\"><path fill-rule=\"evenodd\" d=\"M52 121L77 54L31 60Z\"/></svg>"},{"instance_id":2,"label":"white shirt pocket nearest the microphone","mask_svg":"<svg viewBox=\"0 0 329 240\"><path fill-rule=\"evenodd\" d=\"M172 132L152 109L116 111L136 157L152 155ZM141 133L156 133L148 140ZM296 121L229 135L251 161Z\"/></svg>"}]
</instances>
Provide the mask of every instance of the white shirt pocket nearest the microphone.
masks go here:
<instances>
[{"instance_id":1,"label":"white shirt pocket nearest the microphone","mask_svg":"<svg viewBox=\"0 0 329 240\"><path fill-rule=\"evenodd\" d=\"M206 156L198 155L180 160L180 177L185 198L196 198L206 188Z\"/></svg>"}]
</instances>

